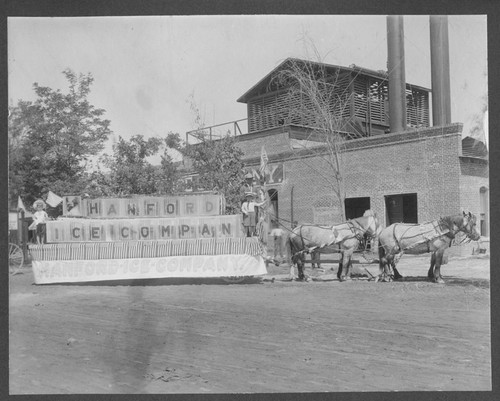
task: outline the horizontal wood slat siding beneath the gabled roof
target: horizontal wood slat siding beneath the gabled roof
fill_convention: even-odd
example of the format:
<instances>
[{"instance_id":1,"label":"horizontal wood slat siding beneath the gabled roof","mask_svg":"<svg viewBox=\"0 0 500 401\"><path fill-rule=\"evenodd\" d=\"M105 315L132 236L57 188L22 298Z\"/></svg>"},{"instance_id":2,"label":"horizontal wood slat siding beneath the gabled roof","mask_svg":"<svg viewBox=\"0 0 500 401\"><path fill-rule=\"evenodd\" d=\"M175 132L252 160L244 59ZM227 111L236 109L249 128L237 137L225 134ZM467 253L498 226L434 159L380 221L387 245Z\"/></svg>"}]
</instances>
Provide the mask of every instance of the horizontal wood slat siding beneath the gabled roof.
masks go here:
<instances>
[{"instance_id":1,"label":"horizontal wood slat siding beneath the gabled roof","mask_svg":"<svg viewBox=\"0 0 500 401\"><path fill-rule=\"evenodd\" d=\"M355 120L366 124L389 126L389 84L386 79L354 74L338 74L321 83L323 98L319 103L328 104L329 111L346 127L355 127ZM352 89L351 89L352 88ZM248 100L249 132L263 131L280 125L296 124L320 127L318 107L311 99L291 94L283 88L267 95ZM350 105L353 105L351 109ZM323 108L323 106L321 106ZM411 85L406 89L406 115L409 127L429 126L429 94ZM360 134L359 129L354 129ZM363 133L369 136L369 131Z\"/></svg>"}]
</instances>

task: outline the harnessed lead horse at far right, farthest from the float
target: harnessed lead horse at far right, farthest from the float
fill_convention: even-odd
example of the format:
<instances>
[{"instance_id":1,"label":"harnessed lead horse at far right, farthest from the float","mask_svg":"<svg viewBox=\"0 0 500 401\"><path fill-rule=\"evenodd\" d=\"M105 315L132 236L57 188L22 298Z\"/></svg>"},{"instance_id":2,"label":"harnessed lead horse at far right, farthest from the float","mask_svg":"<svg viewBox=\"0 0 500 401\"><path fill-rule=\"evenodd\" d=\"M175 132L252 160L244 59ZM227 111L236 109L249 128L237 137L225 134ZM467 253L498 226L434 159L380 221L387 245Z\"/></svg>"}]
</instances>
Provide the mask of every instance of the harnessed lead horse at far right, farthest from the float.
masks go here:
<instances>
[{"instance_id":1,"label":"harnessed lead horse at far right, farthest from the float","mask_svg":"<svg viewBox=\"0 0 500 401\"><path fill-rule=\"evenodd\" d=\"M440 270L444 251L450 247L459 232L472 241L477 241L480 235L475 226L476 217L470 212L442 217L424 224L391 224L379 235L379 278L390 281L391 268L394 278L401 278L396 264L404 253L419 255L430 252L431 267L427 277L436 283L444 283Z\"/></svg>"}]
</instances>

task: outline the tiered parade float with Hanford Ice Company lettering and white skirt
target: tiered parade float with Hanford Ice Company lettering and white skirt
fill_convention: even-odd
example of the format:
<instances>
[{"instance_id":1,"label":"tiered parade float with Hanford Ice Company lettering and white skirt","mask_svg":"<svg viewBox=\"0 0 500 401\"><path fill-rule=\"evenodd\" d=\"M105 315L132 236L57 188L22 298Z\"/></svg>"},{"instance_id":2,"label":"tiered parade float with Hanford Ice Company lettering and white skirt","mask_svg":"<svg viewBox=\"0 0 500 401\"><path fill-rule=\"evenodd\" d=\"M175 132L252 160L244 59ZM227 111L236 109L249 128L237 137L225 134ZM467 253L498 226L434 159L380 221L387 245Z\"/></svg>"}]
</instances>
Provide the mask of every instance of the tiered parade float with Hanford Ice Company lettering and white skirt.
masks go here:
<instances>
[{"instance_id":1,"label":"tiered parade float with Hanford Ice Company lettering and white skirt","mask_svg":"<svg viewBox=\"0 0 500 401\"><path fill-rule=\"evenodd\" d=\"M202 193L82 199L65 197L47 222L47 243L31 245L35 284L221 277L267 273L264 247L246 237L224 197Z\"/></svg>"}]
</instances>

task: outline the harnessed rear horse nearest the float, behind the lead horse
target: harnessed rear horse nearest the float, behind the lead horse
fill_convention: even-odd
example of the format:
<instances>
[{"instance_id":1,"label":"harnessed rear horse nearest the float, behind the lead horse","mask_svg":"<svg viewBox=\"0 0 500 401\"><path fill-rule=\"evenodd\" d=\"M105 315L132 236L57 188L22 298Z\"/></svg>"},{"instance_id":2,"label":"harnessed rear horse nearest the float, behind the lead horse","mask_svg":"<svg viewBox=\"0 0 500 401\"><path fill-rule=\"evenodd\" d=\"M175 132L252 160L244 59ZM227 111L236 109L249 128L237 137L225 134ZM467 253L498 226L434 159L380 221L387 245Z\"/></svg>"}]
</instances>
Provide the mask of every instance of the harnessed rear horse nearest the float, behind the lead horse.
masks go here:
<instances>
[{"instance_id":1,"label":"harnessed rear horse nearest the float, behind the lead horse","mask_svg":"<svg viewBox=\"0 0 500 401\"><path fill-rule=\"evenodd\" d=\"M297 265L299 280L304 280L305 254L332 245L341 253L337 277L343 281L351 275L352 254L366 237L378 236L382 227L374 213L335 226L301 225L293 229L287 239L291 267Z\"/></svg>"}]
</instances>

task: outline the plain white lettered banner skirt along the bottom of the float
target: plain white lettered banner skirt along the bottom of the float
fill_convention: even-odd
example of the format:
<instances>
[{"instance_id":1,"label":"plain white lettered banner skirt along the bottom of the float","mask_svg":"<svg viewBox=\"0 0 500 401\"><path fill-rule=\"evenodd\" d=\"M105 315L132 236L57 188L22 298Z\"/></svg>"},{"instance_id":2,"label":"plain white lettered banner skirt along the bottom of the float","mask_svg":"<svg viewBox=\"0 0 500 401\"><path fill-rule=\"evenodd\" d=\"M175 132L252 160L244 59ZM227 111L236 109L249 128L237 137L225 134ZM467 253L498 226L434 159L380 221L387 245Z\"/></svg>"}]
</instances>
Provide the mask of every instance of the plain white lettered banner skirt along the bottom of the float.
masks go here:
<instances>
[{"instance_id":1,"label":"plain white lettered banner skirt along the bottom of the float","mask_svg":"<svg viewBox=\"0 0 500 401\"><path fill-rule=\"evenodd\" d=\"M34 260L35 284L154 278L241 277L267 274L261 255L193 255L163 258Z\"/></svg>"}]
</instances>

